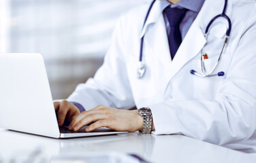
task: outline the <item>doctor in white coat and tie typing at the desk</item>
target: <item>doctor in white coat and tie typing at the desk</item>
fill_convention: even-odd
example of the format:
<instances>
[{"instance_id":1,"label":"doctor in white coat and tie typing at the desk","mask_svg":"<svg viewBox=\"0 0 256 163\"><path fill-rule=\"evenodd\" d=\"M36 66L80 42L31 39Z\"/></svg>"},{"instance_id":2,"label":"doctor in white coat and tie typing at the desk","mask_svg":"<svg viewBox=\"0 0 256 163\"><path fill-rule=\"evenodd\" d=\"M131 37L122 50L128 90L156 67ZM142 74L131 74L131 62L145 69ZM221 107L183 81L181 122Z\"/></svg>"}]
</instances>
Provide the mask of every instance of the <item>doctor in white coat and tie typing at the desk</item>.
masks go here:
<instances>
[{"instance_id":1,"label":"doctor in white coat and tie typing at the desk","mask_svg":"<svg viewBox=\"0 0 256 163\"><path fill-rule=\"evenodd\" d=\"M54 107L70 130L92 123L86 131L184 134L256 152L255 70L256 1L150 1L118 21L95 77Z\"/></svg>"}]
</instances>

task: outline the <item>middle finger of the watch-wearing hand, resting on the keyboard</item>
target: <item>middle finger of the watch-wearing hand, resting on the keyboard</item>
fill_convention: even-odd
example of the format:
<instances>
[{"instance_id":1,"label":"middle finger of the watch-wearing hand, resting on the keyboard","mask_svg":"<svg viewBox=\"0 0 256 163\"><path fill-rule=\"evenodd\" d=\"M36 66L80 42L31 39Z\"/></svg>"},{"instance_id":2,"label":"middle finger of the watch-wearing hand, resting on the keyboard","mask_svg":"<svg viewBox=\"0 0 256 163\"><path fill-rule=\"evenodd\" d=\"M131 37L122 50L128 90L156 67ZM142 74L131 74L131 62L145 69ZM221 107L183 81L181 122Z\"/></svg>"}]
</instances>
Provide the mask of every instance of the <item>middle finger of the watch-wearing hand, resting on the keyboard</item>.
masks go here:
<instances>
[{"instance_id":1,"label":"middle finger of the watch-wearing hand, resting on the keyboard","mask_svg":"<svg viewBox=\"0 0 256 163\"><path fill-rule=\"evenodd\" d=\"M96 114L89 114L80 120L73 128L73 130L77 131L80 130L83 126L90 124L91 122L97 122L99 120L106 119L105 114L96 113Z\"/></svg>"}]
</instances>

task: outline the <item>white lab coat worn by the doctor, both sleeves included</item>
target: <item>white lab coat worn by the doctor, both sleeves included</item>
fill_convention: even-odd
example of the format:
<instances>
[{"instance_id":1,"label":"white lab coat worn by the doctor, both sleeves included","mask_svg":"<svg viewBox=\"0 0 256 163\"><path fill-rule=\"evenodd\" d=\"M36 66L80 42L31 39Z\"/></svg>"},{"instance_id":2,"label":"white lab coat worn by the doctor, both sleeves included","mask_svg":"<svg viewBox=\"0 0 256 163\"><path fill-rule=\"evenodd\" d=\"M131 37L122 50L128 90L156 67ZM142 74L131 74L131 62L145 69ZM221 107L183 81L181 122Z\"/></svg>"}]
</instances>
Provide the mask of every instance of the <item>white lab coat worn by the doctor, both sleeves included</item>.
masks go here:
<instances>
[{"instance_id":1,"label":"white lab coat worn by the doctor, both sleeves included","mask_svg":"<svg viewBox=\"0 0 256 163\"><path fill-rule=\"evenodd\" d=\"M128 109L150 107L154 134L184 134L225 147L256 152L256 2L229 0L232 30L217 70L223 77L197 77L200 50L208 54L206 69L217 62L227 22L212 25L223 0L206 0L171 60L165 22L156 1L142 29L149 3L123 16L114 31L103 66L93 79L80 84L67 98L86 110L97 105ZM140 38L144 37L144 77L138 79Z\"/></svg>"}]
</instances>

